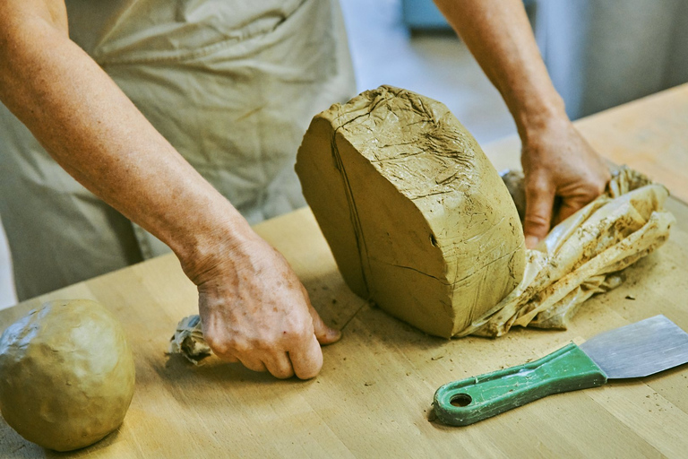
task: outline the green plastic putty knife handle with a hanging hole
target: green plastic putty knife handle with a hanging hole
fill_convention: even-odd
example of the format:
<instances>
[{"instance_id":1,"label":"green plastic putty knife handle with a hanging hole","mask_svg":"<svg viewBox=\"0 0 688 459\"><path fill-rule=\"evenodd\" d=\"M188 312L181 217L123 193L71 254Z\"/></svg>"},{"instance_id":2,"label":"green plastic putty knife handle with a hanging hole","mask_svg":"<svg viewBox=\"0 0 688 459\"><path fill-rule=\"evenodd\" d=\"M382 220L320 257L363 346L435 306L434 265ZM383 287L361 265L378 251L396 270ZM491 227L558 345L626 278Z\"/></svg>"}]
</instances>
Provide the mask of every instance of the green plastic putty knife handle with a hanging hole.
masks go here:
<instances>
[{"instance_id":1,"label":"green plastic putty knife handle with a hanging hole","mask_svg":"<svg viewBox=\"0 0 688 459\"><path fill-rule=\"evenodd\" d=\"M468 426L547 395L605 383L605 372L571 342L542 359L445 384L433 406L444 424Z\"/></svg>"}]
</instances>

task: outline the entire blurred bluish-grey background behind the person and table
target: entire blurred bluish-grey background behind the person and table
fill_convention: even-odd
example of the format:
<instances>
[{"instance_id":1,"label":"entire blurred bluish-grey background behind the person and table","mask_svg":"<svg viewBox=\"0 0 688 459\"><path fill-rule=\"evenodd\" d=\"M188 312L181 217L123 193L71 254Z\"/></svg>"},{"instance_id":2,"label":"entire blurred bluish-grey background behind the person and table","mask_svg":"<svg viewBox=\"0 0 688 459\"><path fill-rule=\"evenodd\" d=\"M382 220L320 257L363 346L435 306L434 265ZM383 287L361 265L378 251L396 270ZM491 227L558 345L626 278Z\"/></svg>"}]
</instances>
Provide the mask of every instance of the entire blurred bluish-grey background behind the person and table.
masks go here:
<instances>
[{"instance_id":1,"label":"entire blurred bluish-grey background behind the person and table","mask_svg":"<svg viewBox=\"0 0 688 459\"><path fill-rule=\"evenodd\" d=\"M358 91L400 86L442 101L478 143L516 128L432 0L340 0ZM528 0L540 51L577 119L688 82L688 1ZM1 139L0 139L1 141ZM15 303L0 225L0 308Z\"/></svg>"}]
</instances>

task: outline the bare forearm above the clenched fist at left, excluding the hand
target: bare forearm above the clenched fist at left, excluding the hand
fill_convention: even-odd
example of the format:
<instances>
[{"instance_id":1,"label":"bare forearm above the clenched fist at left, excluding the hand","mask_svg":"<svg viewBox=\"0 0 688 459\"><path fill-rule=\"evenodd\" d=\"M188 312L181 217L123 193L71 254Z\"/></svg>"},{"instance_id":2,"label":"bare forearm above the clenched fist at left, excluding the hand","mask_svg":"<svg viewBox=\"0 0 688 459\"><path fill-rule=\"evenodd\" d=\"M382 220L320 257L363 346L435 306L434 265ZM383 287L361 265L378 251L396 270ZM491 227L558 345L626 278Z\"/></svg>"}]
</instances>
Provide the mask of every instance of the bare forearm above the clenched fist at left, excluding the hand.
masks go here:
<instances>
[{"instance_id":1,"label":"bare forearm above the clenched fist at left, excluding the hand","mask_svg":"<svg viewBox=\"0 0 688 459\"><path fill-rule=\"evenodd\" d=\"M83 186L167 243L183 263L204 259L213 238L239 244L250 233L60 21L1 14L0 100Z\"/></svg>"}]
</instances>

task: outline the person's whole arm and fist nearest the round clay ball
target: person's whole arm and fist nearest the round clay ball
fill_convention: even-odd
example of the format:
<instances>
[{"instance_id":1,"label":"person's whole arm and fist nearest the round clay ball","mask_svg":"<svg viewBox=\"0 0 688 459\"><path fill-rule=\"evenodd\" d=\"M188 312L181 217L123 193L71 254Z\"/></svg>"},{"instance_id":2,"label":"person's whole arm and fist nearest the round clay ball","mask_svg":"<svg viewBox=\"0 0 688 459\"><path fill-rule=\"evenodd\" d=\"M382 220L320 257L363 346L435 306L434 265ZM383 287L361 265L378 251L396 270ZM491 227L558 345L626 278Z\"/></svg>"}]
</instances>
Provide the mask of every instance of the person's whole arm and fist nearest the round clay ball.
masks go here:
<instances>
[{"instance_id":1,"label":"person's whole arm and fist nearest the round clay ball","mask_svg":"<svg viewBox=\"0 0 688 459\"><path fill-rule=\"evenodd\" d=\"M0 8L0 100L74 178L172 247L216 354L276 377L320 371L319 343L340 333L284 257L68 38L60 0Z\"/></svg>"}]
</instances>

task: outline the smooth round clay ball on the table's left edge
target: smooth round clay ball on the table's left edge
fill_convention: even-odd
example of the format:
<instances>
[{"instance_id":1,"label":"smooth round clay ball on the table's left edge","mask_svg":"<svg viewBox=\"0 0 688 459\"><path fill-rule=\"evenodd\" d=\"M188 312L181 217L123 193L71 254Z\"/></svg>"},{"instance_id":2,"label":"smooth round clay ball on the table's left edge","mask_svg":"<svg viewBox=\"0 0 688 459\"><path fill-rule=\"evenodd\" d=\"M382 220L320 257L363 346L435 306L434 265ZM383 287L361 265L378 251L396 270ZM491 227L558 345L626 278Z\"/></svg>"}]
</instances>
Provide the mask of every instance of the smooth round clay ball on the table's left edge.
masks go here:
<instances>
[{"instance_id":1,"label":"smooth round clay ball on the table's left edge","mask_svg":"<svg viewBox=\"0 0 688 459\"><path fill-rule=\"evenodd\" d=\"M51 301L0 337L0 410L22 437L57 451L115 430L132 401L125 332L90 299Z\"/></svg>"}]
</instances>

